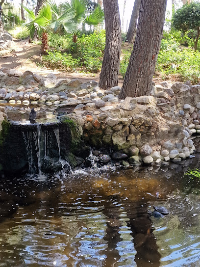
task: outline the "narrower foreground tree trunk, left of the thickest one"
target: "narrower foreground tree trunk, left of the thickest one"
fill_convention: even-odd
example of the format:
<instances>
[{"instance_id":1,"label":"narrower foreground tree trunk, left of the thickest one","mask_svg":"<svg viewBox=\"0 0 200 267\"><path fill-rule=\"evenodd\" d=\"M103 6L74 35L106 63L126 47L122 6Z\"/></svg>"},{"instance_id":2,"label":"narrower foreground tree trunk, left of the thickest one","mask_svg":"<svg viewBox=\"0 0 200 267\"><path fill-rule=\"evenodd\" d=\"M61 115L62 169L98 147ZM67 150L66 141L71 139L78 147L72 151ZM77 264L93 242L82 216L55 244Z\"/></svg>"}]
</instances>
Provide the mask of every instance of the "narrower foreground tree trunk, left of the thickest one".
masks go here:
<instances>
[{"instance_id":1,"label":"narrower foreground tree trunk, left of the thickest one","mask_svg":"<svg viewBox=\"0 0 200 267\"><path fill-rule=\"evenodd\" d=\"M103 6L106 41L100 87L107 89L118 85L122 37L118 0L103 0Z\"/></svg>"}]
</instances>

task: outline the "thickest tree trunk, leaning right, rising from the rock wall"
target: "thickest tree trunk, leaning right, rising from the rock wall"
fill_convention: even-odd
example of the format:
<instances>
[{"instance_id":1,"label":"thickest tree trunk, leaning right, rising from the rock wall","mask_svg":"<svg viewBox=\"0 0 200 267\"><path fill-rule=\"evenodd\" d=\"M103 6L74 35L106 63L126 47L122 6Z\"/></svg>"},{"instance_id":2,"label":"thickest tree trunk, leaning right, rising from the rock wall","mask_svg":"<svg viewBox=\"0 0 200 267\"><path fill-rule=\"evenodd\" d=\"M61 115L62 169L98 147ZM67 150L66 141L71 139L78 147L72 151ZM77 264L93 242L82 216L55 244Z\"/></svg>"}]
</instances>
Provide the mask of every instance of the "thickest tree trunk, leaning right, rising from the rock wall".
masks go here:
<instances>
[{"instance_id":1,"label":"thickest tree trunk, leaning right, rising from the rock wall","mask_svg":"<svg viewBox=\"0 0 200 267\"><path fill-rule=\"evenodd\" d=\"M119 98L150 95L167 0L141 0L138 29Z\"/></svg>"}]
</instances>

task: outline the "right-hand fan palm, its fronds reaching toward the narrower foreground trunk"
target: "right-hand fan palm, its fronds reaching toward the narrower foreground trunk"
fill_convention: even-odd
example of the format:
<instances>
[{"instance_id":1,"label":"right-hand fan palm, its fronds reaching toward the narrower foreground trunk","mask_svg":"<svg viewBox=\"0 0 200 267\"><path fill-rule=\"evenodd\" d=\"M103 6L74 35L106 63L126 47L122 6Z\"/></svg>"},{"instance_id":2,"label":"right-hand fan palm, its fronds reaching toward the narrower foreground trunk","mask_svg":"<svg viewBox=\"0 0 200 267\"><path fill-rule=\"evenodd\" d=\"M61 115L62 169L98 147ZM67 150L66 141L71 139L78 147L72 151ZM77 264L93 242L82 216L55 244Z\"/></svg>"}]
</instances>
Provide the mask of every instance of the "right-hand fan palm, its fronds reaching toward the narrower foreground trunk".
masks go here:
<instances>
[{"instance_id":1,"label":"right-hand fan palm, its fronds reaching toward the narrower foreground trunk","mask_svg":"<svg viewBox=\"0 0 200 267\"><path fill-rule=\"evenodd\" d=\"M75 17L72 19L76 24L76 30L73 34L73 42L77 42L77 34L83 25L98 26L104 20L104 12L100 5L97 5L94 10L87 13L87 0L68 0L61 4L62 10L74 10Z\"/></svg>"}]
</instances>

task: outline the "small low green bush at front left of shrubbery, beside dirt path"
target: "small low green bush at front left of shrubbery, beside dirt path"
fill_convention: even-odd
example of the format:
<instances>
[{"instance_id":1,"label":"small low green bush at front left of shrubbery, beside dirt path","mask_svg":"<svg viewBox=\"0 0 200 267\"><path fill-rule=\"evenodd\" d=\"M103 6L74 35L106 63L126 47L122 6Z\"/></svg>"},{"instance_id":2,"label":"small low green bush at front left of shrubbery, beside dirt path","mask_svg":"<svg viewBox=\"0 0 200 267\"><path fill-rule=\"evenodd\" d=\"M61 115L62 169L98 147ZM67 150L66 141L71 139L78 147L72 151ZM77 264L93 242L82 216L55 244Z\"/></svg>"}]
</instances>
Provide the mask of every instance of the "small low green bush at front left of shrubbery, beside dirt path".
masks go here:
<instances>
[{"instance_id":1,"label":"small low green bush at front left of shrubbery, beside dirt path","mask_svg":"<svg viewBox=\"0 0 200 267\"><path fill-rule=\"evenodd\" d=\"M43 65L48 68L65 69L68 71L75 70L79 66L78 58L73 58L71 54L61 53L60 51L48 52L48 55L43 56Z\"/></svg>"}]
</instances>

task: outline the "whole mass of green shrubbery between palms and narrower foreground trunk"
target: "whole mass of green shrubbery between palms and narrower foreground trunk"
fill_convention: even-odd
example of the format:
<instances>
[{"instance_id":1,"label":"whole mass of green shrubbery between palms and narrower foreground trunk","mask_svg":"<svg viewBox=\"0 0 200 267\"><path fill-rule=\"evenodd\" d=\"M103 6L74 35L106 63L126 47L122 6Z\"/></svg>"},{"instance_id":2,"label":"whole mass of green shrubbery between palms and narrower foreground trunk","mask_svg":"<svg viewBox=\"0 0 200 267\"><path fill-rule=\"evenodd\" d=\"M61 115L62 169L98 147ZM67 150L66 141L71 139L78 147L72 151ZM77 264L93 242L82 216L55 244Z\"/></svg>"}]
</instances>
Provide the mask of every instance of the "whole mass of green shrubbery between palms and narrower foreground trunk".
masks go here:
<instances>
[{"instance_id":1,"label":"whole mass of green shrubbery between palms and narrower foreground trunk","mask_svg":"<svg viewBox=\"0 0 200 267\"><path fill-rule=\"evenodd\" d=\"M69 50L70 54L58 51L49 52L43 56L44 65L53 68L85 67L89 72L98 72L101 68L104 47L105 31L95 31L93 34L78 36L77 42L72 37L50 33L50 47ZM72 65L70 65L72 64Z\"/></svg>"}]
</instances>

